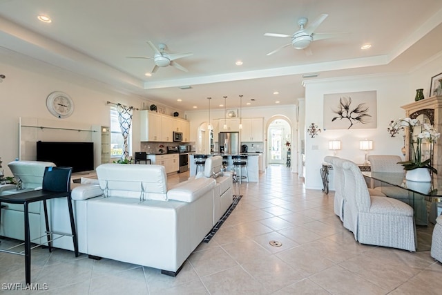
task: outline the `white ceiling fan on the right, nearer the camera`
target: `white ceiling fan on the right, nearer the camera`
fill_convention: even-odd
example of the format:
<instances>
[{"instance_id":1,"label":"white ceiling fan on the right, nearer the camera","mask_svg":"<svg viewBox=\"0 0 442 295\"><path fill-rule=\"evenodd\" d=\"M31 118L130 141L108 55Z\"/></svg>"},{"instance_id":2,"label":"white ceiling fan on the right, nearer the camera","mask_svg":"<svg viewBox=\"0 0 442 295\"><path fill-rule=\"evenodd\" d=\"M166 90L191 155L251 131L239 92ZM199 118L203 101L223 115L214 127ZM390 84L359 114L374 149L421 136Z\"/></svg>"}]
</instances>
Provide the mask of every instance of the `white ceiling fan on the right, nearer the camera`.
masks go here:
<instances>
[{"instance_id":1,"label":"white ceiling fan on the right, nearer the camera","mask_svg":"<svg viewBox=\"0 0 442 295\"><path fill-rule=\"evenodd\" d=\"M280 37L280 38L291 38L291 43L285 44L276 50L267 53L267 55L273 55L273 53L277 53L282 48L293 45L296 49L304 49L306 55L311 55L311 50L308 48L313 41L317 41L320 39L329 39L332 37L336 37L343 33L315 33L314 31L318 26L328 17L329 15L322 14L317 19L315 19L312 23L309 23L309 26L305 28L305 25L309 21L307 17L302 17L298 20L298 26L300 29L296 31L293 35L284 35L284 34L275 34L271 32L267 32L264 35L267 37Z\"/></svg>"}]
</instances>

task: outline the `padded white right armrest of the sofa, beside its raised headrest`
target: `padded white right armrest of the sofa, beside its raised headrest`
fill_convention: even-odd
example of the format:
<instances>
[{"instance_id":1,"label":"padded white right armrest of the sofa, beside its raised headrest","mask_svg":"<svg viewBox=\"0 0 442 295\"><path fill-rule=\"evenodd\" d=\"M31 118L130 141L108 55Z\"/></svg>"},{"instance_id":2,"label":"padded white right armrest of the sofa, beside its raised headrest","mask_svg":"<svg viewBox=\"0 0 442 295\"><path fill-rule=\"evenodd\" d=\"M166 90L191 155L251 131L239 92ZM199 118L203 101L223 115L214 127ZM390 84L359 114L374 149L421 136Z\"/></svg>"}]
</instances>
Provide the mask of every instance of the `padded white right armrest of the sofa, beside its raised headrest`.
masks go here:
<instances>
[{"instance_id":1,"label":"padded white right armrest of the sofa, beside its raised headrest","mask_svg":"<svg viewBox=\"0 0 442 295\"><path fill-rule=\"evenodd\" d=\"M187 180L177 184L167 192L169 200L177 200L181 202L193 202L204 196L209 189L215 187L213 178L196 178Z\"/></svg>"}]
</instances>

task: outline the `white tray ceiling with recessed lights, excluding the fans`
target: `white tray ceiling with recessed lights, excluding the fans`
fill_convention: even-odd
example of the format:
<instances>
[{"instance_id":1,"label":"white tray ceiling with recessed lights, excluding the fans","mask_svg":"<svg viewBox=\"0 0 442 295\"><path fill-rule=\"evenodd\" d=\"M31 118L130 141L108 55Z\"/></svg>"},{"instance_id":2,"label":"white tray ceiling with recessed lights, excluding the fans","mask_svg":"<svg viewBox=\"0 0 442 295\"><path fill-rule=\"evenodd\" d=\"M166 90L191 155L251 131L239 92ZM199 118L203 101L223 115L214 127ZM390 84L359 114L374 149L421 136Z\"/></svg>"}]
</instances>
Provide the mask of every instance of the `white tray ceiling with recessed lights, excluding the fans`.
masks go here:
<instances>
[{"instance_id":1,"label":"white tray ceiling with recessed lights, excluding the fans","mask_svg":"<svg viewBox=\"0 0 442 295\"><path fill-rule=\"evenodd\" d=\"M297 21L329 16L320 32L346 32L314 41L311 56L289 46ZM37 15L48 15L42 23ZM308 23L307 23L308 26ZM441 0L0 0L0 46L97 79L174 108L294 104L304 97L302 74L318 78L407 73L442 51ZM166 44L189 70L160 68L146 40ZM361 50L365 43L372 48ZM242 66L236 66L240 59ZM2 73L8 75L8 73ZM191 86L182 90L179 86ZM279 95L273 95L279 91ZM182 102L177 102L182 99Z\"/></svg>"}]
</instances>

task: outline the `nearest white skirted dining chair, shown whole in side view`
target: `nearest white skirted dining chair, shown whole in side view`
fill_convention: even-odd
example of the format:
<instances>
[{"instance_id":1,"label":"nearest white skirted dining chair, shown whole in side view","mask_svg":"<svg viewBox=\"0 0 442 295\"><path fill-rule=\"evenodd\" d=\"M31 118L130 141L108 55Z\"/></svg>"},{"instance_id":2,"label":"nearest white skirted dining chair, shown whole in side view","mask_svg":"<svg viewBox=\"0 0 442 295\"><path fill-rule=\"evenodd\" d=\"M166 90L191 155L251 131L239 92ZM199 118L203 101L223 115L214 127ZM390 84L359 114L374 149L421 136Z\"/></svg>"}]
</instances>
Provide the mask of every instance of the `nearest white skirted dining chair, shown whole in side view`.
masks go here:
<instances>
[{"instance_id":1,"label":"nearest white skirted dining chair, shown whole in side view","mask_svg":"<svg viewBox=\"0 0 442 295\"><path fill-rule=\"evenodd\" d=\"M340 160L344 173L344 227L361 244L416 251L413 209L394 198L370 196L358 166Z\"/></svg>"}]
</instances>

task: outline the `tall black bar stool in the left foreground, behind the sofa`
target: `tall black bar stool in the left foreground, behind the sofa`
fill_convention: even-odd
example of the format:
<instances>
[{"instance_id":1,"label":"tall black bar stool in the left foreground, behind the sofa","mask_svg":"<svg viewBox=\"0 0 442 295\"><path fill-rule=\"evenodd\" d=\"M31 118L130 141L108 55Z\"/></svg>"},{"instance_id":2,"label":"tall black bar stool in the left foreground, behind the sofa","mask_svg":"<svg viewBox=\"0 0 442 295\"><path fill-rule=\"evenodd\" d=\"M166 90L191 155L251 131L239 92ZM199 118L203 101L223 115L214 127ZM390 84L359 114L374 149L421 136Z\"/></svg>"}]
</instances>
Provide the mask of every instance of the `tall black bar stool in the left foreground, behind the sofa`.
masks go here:
<instances>
[{"instance_id":1,"label":"tall black bar stool in the left foreground, behind the sofa","mask_svg":"<svg viewBox=\"0 0 442 295\"><path fill-rule=\"evenodd\" d=\"M56 234L59 236L72 236L74 242L74 251L75 257L78 257L78 240L77 240L77 231L75 230L75 220L72 206L72 199L70 198L70 174L72 173L72 168L70 167L46 167L44 170L43 176L43 185L42 189L36 191L25 191L23 193L13 193L7 196L0 196L0 205L1 203L9 203L9 204L23 204L24 206L24 243L20 245L11 247L9 249L0 249L0 252L5 252L9 254L18 254L25 256L25 278L26 284L30 284L30 250L39 247L37 245L35 247L30 246L30 225L29 225L29 204L32 202L43 201L44 206L44 219L46 222L46 238L48 239L48 249L52 251L52 239L51 234ZM46 200L50 200L53 198L64 198L66 197L68 200L68 209L69 209L69 218L70 218L70 229L72 234L64 234L55 231L49 230L49 220L48 220L48 207L46 204ZM0 211L1 214L1 211ZM1 216L0 216L1 220ZM3 225L6 226L6 225ZM41 238L41 237L39 237ZM58 238L58 237L57 237ZM22 252L10 251L15 247L19 247L24 244L25 254Z\"/></svg>"}]
</instances>

